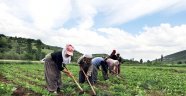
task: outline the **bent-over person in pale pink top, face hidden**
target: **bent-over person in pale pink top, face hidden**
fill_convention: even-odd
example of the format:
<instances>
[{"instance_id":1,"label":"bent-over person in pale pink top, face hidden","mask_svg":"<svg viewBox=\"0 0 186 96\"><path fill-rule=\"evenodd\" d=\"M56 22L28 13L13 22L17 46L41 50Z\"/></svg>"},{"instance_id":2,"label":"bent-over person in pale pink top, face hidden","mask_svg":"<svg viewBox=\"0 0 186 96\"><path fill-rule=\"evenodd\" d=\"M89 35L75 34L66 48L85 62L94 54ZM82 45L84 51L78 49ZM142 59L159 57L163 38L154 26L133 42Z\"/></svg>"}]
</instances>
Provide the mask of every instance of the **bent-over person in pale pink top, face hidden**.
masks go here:
<instances>
[{"instance_id":1,"label":"bent-over person in pale pink top, face hidden","mask_svg":"<svg viewBox=\"0 0 186 96\"><path fill-rule=\"evenodd\" d=\"M113 60L111 58L106 58L106 62L108 64L110 73L118 74L119 61L118 60Z\"/></svg>"}]
</instances>

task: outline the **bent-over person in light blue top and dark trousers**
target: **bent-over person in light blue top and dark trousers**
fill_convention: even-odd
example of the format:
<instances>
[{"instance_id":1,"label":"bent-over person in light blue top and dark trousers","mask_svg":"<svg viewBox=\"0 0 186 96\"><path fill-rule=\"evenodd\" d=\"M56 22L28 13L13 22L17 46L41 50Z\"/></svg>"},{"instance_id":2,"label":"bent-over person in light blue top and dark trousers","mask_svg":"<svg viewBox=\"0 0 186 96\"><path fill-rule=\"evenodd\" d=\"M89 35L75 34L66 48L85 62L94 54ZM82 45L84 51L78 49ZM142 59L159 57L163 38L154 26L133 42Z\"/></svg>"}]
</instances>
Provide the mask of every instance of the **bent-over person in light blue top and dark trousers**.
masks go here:
<instances>
[{"instance_id":1,"label":"bent-over person in light blue top and dark trousers","mask_svg":"<svg viewBox=\"0 0 186 96\"><path fill-rule=\"evenodd\" d=\"M100 66L102 69L102 76L104 80L108 79L108 65L105 62L105 59L102 57L95 57L92 59L91 63L93 64L94 68L93 68L93 81L94 83L96 83L97 81L97 75L98 75L98 70L100 70Z\"/></svg>"}]
</instances>

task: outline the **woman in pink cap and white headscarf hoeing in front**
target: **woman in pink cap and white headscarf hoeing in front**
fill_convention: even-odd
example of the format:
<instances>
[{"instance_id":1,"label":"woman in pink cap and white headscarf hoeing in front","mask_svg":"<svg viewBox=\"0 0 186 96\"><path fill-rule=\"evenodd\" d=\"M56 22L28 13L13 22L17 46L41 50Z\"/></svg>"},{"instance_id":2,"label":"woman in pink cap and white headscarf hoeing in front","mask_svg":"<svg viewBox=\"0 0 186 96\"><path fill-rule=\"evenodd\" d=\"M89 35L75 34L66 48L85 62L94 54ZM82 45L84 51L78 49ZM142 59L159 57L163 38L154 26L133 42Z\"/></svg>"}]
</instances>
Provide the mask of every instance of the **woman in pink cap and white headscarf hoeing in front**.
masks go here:
<instances>
[{"instance_id":1,"label":"woman in pink cap and white headscarf hoeing in front","mask_svg":"<svg viewBox=\"0 0 186 96\"><path fill-rule=\"evenodd\" d=\"M70 63L73 52L74 47L71 44L67 44L62 51L53 52L45 56L44 73L49 92L60 92L60 88L62 87L60 71L72 77L72 74L64 67L66 64Z\"/></svg>"}]
</instances>

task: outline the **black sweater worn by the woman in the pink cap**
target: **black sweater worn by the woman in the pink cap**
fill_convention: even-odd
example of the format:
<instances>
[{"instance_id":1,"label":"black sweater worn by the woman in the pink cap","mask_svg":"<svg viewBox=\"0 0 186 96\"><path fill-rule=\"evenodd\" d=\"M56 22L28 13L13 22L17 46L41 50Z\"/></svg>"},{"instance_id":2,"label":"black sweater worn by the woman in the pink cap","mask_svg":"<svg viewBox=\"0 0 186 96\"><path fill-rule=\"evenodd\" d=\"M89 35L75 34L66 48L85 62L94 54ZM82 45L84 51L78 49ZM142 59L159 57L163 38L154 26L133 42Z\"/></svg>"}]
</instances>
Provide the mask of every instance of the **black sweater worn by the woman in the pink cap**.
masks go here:
<instances>
[{"instance_id":1,"label":"black sweater worn by the woman in the pink cap","mask_svg":"<svg viewBox=\"0 0 186 96\"><path fill-rule=\"evenodd\" d=\"M53 52L51 53L52 60L57 64L57 67L60 71L62 71L65 67L65 64L63 64L63 57L62 57L62 52Z\"/></svg>"}]
</instances>

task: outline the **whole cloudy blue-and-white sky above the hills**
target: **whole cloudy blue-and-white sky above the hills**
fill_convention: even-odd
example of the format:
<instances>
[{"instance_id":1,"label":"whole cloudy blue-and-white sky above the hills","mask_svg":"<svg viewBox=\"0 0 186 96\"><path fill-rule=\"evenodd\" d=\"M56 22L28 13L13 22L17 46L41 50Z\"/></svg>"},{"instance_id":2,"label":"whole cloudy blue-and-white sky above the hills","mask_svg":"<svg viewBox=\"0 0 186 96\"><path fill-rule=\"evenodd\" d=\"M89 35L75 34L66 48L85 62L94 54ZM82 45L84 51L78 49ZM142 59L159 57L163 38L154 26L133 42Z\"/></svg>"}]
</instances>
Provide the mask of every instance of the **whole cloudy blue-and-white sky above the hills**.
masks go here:
<instances>
[{"instance_id":1,"label":"whole cloudy blue-and-white sky above the hills","mask_svg":"<svg viewBox=\"0 0 186 96\"><path fill-rule=\"evenodd\" d=\"M154 60L186 48L186 0L0 0L0 34Z\"/></svg>"}]
</instances>

